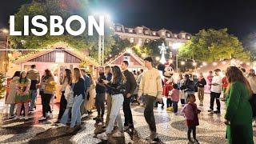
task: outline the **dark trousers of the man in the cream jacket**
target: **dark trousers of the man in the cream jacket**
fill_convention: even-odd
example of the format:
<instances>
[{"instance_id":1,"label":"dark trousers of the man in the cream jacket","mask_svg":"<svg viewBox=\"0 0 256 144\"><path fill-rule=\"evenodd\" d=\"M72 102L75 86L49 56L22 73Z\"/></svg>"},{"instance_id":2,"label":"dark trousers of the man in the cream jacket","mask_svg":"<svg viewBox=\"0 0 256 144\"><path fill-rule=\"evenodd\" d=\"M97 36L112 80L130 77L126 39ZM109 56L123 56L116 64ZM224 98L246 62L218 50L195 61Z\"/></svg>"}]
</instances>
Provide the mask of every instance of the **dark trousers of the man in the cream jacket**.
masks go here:
<instances>
[{"instance_id":1,"label":"dark trousers of the man in the cream jacket","mask_svg":"<svg viewBox=\"0 0 256 144\"><path fill-rule=\"evenodd\" d=\"M157 128L155 126L154 120L154 102L156 98L150 95L144 95L145 100L145 110L144 117L146 119L146 123L150 126L151 132L157 132Z\"/></svg>"}]
</instances>

